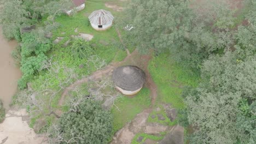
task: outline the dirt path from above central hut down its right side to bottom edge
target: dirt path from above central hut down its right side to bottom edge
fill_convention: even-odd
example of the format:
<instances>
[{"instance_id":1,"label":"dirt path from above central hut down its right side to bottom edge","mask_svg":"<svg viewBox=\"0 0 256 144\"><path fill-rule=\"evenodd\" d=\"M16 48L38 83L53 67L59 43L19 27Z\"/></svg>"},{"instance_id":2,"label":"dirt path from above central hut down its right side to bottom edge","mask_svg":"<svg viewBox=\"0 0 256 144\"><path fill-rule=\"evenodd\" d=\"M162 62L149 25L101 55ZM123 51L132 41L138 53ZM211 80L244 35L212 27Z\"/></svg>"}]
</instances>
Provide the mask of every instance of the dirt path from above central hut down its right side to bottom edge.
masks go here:
<instances>
[{"instance_id":1,"label":"dirt path from above central hut down its right side to bottom edge","mask_svg":"<svg viewBox=\"0 0 256 144\"><path fill-rule=\"evenodd\" d=\"M153 105L155 104L155 100L158 96L157 86L154 83L149 70L148 64L152 56L150 55L139 55L137 51L131 54L131 61L126 64L136 65L141 68L146 73L146 87L150 90L150 97L152 98L151 105L148 109L138 113L136 117L125 125L124 128L120 129L117 133L115 133L113 137L113 141L111 144L129 144L131 143L133 137L142 131L147 124L147 119L149 114L153 111Z\"/></svg>"}]
</instances>

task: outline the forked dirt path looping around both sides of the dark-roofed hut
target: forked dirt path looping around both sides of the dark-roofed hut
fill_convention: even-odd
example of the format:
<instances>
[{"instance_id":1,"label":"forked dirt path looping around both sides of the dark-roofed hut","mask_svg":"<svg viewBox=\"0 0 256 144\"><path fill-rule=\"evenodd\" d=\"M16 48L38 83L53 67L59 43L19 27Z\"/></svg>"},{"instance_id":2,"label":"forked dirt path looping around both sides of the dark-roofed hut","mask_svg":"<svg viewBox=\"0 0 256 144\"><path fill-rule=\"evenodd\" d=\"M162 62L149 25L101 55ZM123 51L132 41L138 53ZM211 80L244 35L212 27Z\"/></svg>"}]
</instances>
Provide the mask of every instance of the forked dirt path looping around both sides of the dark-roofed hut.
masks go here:
<instances>
[{"instance_id":1,"label":"forked dirt path looping around both sides of the dark-roofed hut","mask_svg":"<svg viewBox=\"0 0 256 144\"><path fill-rule=\"evenodd\" d=\"M123 40L121 39L121 34L117 29L117 33L119 35L120 41L123 44ZM129 52L129 50L126 49L127 56L124 58L121 62L115 62L110 63L106 68L102 70L98 70L92 75L85 77L81 80L75 81L72 85L65 88L61 95L61 99L59 101L59 106L63 105L66 95L69 91L71 91L73 88L75 88L78 85L81 85L82 83L89 82L90 80L97 80L100 79L104 75L109 75L112 73L112 71L119 67L120 65L136 65L137 67L144 70L146 73L146 87L150 89L150 97L152 98L151 106L142 111L141 113L138 113L138 115L130 122L125 125L124 128L120 129L114 136L112 144L128 144L131 143L133 137L141 131L147 122L149 114L153 110L153 105L155 104L157 94L157 86L154 83L149 70L148 70L148 64L152 56L150 55L141 55L137 50L133 51L132 53ZM57 111L58 114L61 114L60 111Z\"/></svg>"}]
</instances>

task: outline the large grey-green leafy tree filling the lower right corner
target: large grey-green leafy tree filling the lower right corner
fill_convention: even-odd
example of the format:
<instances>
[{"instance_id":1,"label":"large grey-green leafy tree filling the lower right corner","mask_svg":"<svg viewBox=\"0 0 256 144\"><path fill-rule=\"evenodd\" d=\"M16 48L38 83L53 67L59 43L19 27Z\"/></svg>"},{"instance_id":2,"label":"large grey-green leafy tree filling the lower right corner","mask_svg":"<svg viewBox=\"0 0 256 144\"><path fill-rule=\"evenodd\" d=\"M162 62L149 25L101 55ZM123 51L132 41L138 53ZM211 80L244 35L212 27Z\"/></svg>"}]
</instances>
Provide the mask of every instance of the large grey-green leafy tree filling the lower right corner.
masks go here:
<instances>
[{"instance_id":1,"label":"large grey-green leafy tree filling the lower right corner","mask_svg":"<svg viewBox=\"0 0 256 144\"><path fill-rule=\"evenodd\" d=\"M247 132L236 127L236 119L240 101L248 98L252 103L256 99L255 68L255 58L239 61L231 52L212 56L203 64L200 87L185 98L188 122L196 128L192 143L246 141L240 135Z\"/></svg>"}]
</instances>

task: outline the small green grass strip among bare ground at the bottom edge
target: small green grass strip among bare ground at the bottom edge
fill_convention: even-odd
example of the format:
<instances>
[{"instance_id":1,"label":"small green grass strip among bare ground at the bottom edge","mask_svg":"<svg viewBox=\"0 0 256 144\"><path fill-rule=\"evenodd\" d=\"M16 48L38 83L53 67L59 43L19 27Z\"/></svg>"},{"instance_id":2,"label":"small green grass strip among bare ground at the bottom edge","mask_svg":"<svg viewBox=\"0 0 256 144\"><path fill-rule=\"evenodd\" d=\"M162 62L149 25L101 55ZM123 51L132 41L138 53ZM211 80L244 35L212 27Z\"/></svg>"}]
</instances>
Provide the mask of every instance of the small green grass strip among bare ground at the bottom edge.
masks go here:
<instances>
[{"instance_id":1,"label":"small green grass strip among bare ground at the bottom edge","mask_svg":"<svg viewBox=\"0 0 256 144\"><path fill-rule=\"evenodd\" d=\"M136 134L135 137L133 137L132 139L132 144L139 144L139 143L143 143L146 139L151 139L151 140L155 140L155 141L158 141L158 140L162 140L164 139L164 136L166 135L166 133L161 133L161 136L155 136L155 135L149 135L149 134ZM143 140L141 142L137 142L137 139L139 136L143 136Z\"/></svg>"}]
</instances>

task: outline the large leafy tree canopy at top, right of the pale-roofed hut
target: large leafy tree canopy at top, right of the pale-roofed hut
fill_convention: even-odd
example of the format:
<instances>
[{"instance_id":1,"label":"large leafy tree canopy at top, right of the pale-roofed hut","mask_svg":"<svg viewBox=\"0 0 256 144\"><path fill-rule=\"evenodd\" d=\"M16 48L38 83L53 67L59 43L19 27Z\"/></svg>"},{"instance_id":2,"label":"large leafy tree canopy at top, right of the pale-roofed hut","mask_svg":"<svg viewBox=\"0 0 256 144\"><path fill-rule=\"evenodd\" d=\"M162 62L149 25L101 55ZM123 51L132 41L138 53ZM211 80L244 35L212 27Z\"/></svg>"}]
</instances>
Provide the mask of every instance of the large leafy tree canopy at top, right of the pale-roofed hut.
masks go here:
<instances>
[{"instance_id":1,"label":"large leafy tree canopy at top, right of the pale-roofed hut","mask_svg":"<svg viewBox=\"0 0 256 144\"><path fill-rule=\"evenodd\" d=\"M178 62L198 69L203 59L230 49L234 41L229 31L234 13L228 4L218 2L208 5L207 13L211 12L206 15L205 11L198 11L201 7L191 8L193 3L189 1L132 0L121 21L121 26L134 27L127 31L126 43L141 52L170 50Z\"/></svg>"}]
</instances>

